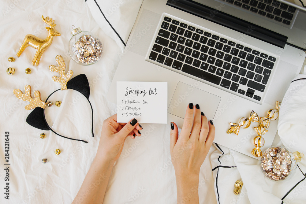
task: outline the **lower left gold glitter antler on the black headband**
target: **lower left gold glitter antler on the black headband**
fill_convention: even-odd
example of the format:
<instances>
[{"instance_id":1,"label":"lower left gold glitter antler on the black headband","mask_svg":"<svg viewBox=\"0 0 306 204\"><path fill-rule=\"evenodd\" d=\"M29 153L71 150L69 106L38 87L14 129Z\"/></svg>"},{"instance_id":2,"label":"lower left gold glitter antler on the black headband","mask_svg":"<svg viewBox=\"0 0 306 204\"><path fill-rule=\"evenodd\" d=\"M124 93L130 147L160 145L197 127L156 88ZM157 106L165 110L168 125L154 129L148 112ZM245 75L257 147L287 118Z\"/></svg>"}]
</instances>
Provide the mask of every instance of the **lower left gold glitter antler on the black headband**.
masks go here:
<instances>
[{"instance_id":1,"label":"lower left gold glitter antler on the black headband","mask_svg":"<svg viewBox=\"0 0 306 204\"><path fill-rule=\"evenodd\" d=\"M25 85L24 86L24 94L19 89L14 89L14 95L22 101L28 101L30 104L26 105L24 108L26 110L31 110L36 107L46 108L47 103L43 102L40 99L40 92L34 91L34 98L31 97L31 86Z\"/></svg>"}]
</instances>

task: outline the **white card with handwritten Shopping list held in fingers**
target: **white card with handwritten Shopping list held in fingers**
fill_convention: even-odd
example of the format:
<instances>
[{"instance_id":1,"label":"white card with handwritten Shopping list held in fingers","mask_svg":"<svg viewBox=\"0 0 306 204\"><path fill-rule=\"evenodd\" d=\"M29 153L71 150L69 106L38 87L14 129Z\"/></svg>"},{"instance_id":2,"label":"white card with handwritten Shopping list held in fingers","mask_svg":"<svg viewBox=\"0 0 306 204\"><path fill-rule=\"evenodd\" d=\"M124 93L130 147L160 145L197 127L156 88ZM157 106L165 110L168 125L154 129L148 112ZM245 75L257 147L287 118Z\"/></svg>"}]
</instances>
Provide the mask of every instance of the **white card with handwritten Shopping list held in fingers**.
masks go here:
<instances>
[{"instance_id":1,"label":"white card with handwritten Shopping list held in fingers","mask_svg":"<svg viewBox=\"0 0 306 204\"><path fill-rule=\"evenodd\" d=\"M117 122L167 123L167 82L117 82Z\"/></svg>"}]
</instances>

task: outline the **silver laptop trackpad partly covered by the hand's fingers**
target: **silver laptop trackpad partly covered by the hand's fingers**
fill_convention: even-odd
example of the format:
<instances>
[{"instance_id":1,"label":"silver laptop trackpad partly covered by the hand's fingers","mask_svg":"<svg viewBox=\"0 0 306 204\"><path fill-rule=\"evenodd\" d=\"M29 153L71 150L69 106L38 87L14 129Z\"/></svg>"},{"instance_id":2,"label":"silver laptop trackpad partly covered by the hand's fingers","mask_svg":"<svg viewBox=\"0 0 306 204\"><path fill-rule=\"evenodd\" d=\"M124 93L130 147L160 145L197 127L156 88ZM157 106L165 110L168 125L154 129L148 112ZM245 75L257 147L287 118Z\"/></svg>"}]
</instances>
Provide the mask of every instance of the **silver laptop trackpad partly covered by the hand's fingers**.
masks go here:
<instances>
[{"instance_id":1,"label":"silver laptop trackpad partly covered by the hand's fingers","mask_svg":"<svg viewBox=\"0 0 306 204\"><path fill-rule=\"evenodd\" d=\"M221 98L188 84L178 82L168 107L168 113L185 118L189 103L199 104L207 119L213 120Z\"/></svg>"}]
</instances>

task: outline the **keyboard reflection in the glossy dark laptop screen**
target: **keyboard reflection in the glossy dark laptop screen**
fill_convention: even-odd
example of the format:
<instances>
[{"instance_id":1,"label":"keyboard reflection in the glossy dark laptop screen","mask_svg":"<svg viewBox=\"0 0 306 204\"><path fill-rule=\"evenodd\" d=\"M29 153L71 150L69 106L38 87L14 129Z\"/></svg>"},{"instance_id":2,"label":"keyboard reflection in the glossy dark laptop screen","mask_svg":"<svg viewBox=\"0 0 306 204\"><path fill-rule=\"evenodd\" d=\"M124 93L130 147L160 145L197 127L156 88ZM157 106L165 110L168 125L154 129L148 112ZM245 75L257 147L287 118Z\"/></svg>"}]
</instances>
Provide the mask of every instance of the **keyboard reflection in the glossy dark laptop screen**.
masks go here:
<instances>
[{"instance_id":1,"label":"keyboard reflection in the glossy dark laptop screen","mask_svg":"<svg viewBox=\"0 0 306 204\"><path fill-rule=\"evenodd\" d=\"M296 8L276 0L218 0L224 4L241 8L248 13L263 17L273 23L292 28L297 15Z\"/></svg>"}]
</instances>

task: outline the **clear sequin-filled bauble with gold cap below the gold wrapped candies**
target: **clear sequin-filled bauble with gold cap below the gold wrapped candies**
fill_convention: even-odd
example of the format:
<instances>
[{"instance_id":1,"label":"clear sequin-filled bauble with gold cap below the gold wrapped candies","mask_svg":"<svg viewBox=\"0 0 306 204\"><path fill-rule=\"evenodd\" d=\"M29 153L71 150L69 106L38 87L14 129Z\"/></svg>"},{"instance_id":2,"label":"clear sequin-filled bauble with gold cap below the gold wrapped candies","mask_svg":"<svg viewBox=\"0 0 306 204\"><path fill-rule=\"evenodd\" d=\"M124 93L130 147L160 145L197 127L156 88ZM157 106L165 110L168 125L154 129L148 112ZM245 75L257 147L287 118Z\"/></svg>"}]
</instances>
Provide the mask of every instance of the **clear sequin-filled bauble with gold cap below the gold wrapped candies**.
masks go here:
<instances>
[{"instance_id":1,"label":"clear sequin-filled bauble with gold cap below the gold wrapped candies","mask_svg":"<svg viewBox=\"0 0 306 204\"><path fill-rule=\"evenodd\" d=\"M303 156L303 153L291 153L285 147L269 147L260 158L260 169L270 180L285 180L292 175Z\"/></svg>"}]
</instances>

